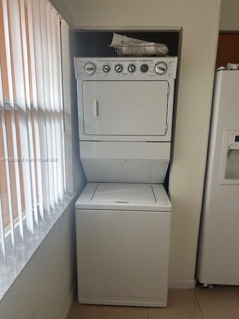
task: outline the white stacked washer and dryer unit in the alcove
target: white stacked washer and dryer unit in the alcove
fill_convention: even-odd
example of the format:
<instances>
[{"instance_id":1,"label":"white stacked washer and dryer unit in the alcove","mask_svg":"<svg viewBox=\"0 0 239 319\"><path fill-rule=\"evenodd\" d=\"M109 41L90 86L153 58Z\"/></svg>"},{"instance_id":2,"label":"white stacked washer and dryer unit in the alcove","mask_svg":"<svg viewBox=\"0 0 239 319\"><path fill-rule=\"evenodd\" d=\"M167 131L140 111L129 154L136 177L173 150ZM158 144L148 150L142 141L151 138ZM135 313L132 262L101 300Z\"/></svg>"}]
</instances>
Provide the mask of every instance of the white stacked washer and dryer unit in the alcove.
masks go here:
<instances>
[{"instance_id":1,"label":"white stacked washer and dryer unit in the alcove","mask_svg":"<svg viewBox=\"0 0 239 319\"><path fill-rule=\"evenodd\" d=\"M177 57L76 57L78 300L166 307Z\"/></svg>"}]
</instances>

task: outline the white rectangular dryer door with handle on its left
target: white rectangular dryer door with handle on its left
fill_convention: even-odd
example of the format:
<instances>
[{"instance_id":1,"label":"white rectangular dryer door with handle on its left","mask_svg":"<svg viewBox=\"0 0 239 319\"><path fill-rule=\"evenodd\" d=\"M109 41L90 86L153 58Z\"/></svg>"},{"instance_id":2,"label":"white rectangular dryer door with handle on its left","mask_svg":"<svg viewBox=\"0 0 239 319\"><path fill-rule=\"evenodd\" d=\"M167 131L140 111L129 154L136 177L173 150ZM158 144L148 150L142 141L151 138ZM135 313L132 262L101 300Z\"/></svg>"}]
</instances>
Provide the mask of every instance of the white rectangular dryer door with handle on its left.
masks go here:
<instances>
[{"instance_id":1,"label":"white rectangular dryer door with handle on its left","mask_svg":"<svg viewBox=\"0 0 239 319\"><path fill-rule=\"evenodd\" d=\"M84 81L86 135L163 136L168 81Z\"/></svg>"}]
</instances>

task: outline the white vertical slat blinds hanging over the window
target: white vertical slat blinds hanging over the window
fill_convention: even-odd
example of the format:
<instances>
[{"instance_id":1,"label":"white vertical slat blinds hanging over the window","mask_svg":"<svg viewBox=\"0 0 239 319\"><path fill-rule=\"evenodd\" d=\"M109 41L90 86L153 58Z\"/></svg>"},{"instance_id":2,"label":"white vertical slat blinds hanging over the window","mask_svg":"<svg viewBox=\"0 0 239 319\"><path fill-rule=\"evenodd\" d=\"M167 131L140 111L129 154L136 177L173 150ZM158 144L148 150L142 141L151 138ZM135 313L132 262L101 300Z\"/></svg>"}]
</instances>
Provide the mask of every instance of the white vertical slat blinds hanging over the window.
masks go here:
<instances>
[{"instance_id":1,"label":"white vertical slat blinds hanging over the window","mask_svg":"<svg viewBox=\"0 0 239 319\"><path fill-rule=\"evenodd\" d=\"M15 247L64 198L61 17L46 0L0 0L0 241Z\"/></svg>"}]
</instances>

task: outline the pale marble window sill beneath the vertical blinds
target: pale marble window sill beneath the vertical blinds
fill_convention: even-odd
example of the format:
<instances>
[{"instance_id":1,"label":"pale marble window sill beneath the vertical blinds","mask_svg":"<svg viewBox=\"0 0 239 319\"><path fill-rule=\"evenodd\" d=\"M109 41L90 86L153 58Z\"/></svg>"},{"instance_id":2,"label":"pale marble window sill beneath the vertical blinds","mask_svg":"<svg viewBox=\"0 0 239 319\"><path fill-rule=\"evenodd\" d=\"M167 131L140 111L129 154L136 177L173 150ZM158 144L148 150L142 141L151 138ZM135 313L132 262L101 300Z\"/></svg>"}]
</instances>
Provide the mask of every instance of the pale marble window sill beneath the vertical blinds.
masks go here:
<instances>
[{"instance_id":1,"label":"pale marble window sill beneath the vertical blinds","mask_svg":"<svg viewBox=\"0 0 239 319\"><path fill-rule=\"evenodd\" d=\"M67 206L75 198L75 195L75 193L67 193L64 201L59 203L59 206L55 211L52 212L50 216L44 216L44 222L39 221L39 227L34 229L34 235L29 231L24 232L25 246L23 246L19 234L16 234L16 256L14 256L14 249L11 246L11 242L7 244L7 267L5 267L3 256L0 255L0 300L20 275L25 265L46 238L57 220L64 213Z\"/></svg>"}]
</instances>

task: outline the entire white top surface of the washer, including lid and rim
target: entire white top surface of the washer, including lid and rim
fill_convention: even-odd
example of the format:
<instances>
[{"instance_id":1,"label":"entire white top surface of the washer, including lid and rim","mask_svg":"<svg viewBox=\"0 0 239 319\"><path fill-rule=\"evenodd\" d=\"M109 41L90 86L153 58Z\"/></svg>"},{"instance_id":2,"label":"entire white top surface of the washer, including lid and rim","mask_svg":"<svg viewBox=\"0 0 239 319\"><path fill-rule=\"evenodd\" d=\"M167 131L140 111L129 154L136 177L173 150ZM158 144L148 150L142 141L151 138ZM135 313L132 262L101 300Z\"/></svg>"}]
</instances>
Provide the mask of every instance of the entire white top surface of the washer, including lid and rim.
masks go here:
<instances>
[{"instance_id":1,"label":"entire white top surface of the washer, including lid and rim","mask_svg":"<svg viewBox=\"0 0 239 319\"><path fill-rule=\"evenodd\" d=\"M162 184L88 183L76 209L171 211Z\"/></svg>"}]
</instances>

